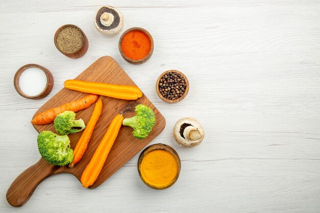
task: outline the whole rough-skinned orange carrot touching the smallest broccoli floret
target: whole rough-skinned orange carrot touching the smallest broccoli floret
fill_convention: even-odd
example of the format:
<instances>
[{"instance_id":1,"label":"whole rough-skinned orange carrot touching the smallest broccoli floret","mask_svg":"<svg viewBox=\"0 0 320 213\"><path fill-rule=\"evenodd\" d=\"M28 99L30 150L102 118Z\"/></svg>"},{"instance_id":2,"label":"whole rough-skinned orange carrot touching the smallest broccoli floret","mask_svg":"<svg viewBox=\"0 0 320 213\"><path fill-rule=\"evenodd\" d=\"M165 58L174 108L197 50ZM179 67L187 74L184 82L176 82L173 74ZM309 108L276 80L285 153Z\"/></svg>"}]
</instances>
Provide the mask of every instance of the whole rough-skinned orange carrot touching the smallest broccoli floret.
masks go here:
<instances>
[{"instance_id":1,"label":"whole rough-skinned orange carrot touching the smallest broccoli floret","mask_svg":"<svg viewBox=\"0 0 320 213\"><path fill-rule=\"evenodd\" d=\"M53 123L56 116L64 111L78 112L82 109L86 109L97 101L99 96L97 94L89 94L88 96L78 99L76 101L63 104L61 106L48 109L47 111L40 112L31 121L31 124L45 125Z\"/></svg>"}]
</instances>

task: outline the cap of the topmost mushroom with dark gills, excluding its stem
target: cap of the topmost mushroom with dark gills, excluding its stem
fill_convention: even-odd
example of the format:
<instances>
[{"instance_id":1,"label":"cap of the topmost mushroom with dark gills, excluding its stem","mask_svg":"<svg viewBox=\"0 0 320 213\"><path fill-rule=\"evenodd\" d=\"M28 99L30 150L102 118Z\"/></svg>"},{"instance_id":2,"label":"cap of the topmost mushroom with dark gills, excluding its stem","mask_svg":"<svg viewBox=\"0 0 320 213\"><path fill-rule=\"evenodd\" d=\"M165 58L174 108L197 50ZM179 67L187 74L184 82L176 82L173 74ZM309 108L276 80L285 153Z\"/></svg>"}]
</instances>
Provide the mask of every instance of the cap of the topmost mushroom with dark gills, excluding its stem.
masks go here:
<instances>
[{"instance_id":1,"label":"cap of the topmost mushroom with dark gills, excluding its stem","mask_svg":"<svg viewBox=\"0 0 320 213\"><path fill-rule=\"evenodd\" d=\"M103 14L110 14L110 16L113 16L112 23L109 26L105 26L101 23L101 16ZM123 28L123 21L124 19L121 12L111 6L102 6L95 16L95 26L97 30L107 35L115 35L119 33Z\"/></svg>"}]
</instances>

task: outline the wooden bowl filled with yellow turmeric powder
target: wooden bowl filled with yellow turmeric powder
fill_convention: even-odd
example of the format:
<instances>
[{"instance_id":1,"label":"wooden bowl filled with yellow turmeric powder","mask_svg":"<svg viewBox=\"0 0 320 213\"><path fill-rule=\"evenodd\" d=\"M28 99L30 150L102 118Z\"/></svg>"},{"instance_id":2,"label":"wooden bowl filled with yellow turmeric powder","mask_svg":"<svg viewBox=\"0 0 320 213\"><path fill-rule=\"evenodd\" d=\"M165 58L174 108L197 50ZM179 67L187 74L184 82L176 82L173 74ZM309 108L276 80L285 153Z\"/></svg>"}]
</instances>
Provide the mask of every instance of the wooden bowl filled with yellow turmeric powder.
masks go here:
<instances>
[{"instance_id":1,"label":"wooden bowl filled with yellow turmeric powder","mask_svg":"<svg viewBox=\"0 0 320 213\"><path fill-rule=\"evenodd\" d=\"M172 186L179 177L180 169L179 155L165 144L147 147L138 160L141 180L155 190L164 190Z\"/></svg>"}]
</instances>

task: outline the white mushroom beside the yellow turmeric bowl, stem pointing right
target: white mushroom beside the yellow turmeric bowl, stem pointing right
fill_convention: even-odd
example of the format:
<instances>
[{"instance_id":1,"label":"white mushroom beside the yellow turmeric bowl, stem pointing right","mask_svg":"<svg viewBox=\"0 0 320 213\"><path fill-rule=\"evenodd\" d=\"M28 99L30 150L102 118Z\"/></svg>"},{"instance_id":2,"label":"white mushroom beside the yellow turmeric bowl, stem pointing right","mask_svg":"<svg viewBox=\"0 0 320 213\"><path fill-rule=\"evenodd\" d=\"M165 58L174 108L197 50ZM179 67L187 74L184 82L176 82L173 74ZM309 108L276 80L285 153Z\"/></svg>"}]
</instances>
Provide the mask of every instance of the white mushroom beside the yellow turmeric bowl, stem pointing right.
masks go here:
<instances>
[{"instance_id":1,"label":"white mushroom beside the yellow turmeric bowl, stem pointing right","mask_svg":"<svg viewBox=\"0 0 320 213\"><path fill-rule=\"evenodd\" d=\"M203 140L204 130L198 120L184 117L174 125L173 137L182 147L195 147Z\"/></svg>"}]
</instances>

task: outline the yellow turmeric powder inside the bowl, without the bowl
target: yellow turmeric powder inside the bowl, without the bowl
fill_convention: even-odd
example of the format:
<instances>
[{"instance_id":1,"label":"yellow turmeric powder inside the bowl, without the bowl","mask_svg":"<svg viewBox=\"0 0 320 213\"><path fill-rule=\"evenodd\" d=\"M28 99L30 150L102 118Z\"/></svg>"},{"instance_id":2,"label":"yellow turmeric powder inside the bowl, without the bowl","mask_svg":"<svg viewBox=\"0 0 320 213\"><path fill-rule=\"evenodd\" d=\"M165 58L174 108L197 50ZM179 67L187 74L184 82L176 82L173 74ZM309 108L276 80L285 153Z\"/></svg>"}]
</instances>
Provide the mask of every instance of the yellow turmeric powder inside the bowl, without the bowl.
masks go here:
<instances>
[{"instance_id":1,"label":"yellow turmeric powder inside the bowl, without the bowl","mask_svg":"<svg viewBox=\"0 0 320 213\"><path fill-rule=\"evenodd\" d=\"M153 150L144 156L140 171L148 184L164 187L174 181L178 172L178 163L170 152Z\"/></svg>"}]
</instances>

